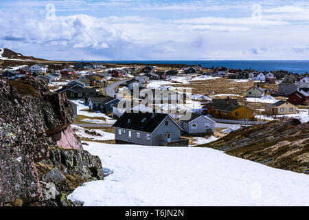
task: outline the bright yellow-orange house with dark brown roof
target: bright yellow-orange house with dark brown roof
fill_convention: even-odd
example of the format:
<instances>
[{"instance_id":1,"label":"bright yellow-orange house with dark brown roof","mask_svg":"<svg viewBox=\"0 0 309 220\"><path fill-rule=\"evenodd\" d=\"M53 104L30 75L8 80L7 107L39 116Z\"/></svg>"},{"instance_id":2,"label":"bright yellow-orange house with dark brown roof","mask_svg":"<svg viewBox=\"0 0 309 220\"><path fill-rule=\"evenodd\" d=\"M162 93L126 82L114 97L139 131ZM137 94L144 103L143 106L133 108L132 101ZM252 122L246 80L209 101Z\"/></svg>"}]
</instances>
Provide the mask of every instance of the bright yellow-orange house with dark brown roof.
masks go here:
<instances>
[{"instance_id":1,"label":"bright yellow-orange house with dark brown roof","mask_svg":"<svg viewBox=\"0 0 309 220\"><path fill-rule=\"evenodd\" d=\"M205 105L207 113L214 118L227 120L253 120L254 115L251 109L238 105L237 99L213 99Z\"/></svg>"}]
</instances>

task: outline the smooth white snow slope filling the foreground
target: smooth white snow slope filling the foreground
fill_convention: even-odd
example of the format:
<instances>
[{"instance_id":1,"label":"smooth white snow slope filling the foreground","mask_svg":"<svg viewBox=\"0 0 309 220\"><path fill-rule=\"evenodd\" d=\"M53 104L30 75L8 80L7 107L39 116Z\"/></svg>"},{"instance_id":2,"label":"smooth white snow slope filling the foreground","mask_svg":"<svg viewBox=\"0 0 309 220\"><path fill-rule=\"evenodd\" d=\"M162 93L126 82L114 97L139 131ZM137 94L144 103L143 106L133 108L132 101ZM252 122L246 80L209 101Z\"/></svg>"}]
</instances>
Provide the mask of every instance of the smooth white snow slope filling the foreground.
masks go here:
<instances>
[{"instance_id":1,"label":"smooth white snow slope filling the foreground","mask_svg":"<svg viewBox=\"0 0 309 220\"><path fill-rule=\"evenodd\" d=\"M309 175L211 148L88 143L84 148L113 174L69 195L84 206L309 205Z\"/></svg>"}]
</instances>

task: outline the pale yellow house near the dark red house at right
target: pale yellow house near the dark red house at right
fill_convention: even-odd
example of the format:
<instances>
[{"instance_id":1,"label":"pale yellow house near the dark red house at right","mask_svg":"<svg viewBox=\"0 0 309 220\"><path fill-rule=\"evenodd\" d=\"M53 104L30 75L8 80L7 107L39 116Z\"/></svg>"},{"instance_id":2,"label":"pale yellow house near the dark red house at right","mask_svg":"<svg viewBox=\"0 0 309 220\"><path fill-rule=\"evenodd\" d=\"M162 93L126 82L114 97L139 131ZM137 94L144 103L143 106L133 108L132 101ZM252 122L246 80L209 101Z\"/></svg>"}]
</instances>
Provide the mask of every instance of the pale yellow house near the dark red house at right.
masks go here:
<instances>
[{"instance_id":1,"label":"pale yellow house near the dark red house at right","mask_svg":"<svg viewBox=\"0 0 309 220\"><path fill-rule=\"evenodd\" d=\"M269 115L287 115L296 114L297 107L290 102L280 100L274 104L268 104L265 108L265 113Z\"/></svg>"}]
</instances>

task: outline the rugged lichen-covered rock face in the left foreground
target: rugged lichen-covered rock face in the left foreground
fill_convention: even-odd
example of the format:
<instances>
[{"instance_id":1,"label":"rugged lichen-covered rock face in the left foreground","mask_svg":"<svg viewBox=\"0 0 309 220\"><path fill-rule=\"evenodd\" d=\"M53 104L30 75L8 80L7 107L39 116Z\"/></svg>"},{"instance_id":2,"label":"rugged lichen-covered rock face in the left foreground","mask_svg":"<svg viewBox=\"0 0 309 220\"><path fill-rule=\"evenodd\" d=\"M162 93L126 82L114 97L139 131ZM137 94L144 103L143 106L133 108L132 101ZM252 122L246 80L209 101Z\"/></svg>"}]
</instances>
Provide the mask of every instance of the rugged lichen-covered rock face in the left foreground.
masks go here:
<instances>
[{"instance_id":1,"label":"rugged lichen-covered rock face in the left foreground","mask_svg":"<svg viewBox=\"0 0 309 220\"><path fill-rule=\"evenodd\" d=\"M32 77L9 82L0 78L0 100L0 205L19 199L39 201L43 198L39 177L55 181L63 192L71 189L61 185L67 175L78 184L102 179L93 174L101 172L100 159L82 150L70 127L73 109L65 94L51 93ZM58 149L49 151L54 146ZM44 177L36 169L42 160L43 166L51 166Z\"/></svg>"}]
</instances>

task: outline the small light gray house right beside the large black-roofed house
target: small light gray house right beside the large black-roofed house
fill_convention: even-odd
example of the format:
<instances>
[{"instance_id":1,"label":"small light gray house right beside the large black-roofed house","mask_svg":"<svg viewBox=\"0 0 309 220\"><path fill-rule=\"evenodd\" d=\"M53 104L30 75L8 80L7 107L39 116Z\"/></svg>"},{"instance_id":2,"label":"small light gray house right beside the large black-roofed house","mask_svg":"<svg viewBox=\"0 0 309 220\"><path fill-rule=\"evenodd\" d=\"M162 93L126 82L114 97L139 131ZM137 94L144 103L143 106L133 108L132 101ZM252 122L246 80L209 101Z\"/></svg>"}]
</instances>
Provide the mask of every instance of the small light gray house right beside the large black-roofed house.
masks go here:
<instances>
[{"instance_id":1,"label":"small light gray house right beside the large black-roofed house","mask_svg":"<svg viewBox=\"0 0 309 220\"><path fill-rule=\"evenodd\" d=\"M179 120L179 125L185 133L189 134L212 134L216 122L205 115L192 114L190 120Z\"/></svg>"}]
</instances>

